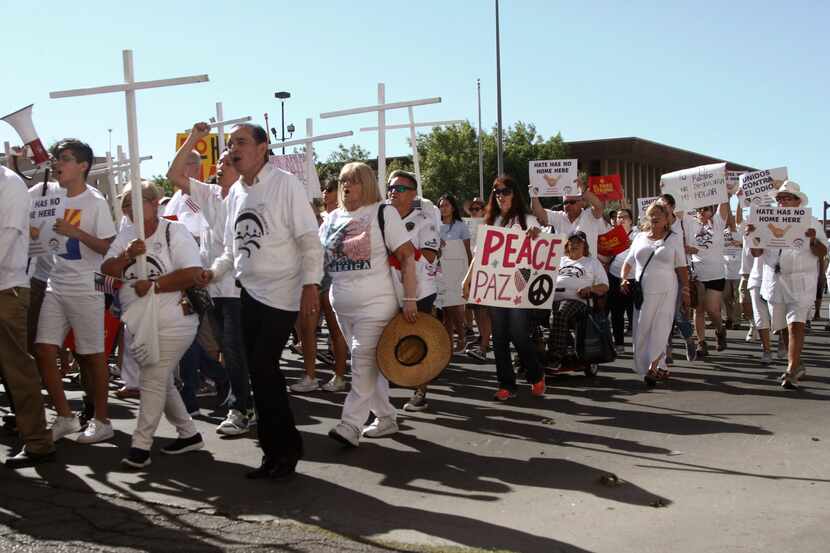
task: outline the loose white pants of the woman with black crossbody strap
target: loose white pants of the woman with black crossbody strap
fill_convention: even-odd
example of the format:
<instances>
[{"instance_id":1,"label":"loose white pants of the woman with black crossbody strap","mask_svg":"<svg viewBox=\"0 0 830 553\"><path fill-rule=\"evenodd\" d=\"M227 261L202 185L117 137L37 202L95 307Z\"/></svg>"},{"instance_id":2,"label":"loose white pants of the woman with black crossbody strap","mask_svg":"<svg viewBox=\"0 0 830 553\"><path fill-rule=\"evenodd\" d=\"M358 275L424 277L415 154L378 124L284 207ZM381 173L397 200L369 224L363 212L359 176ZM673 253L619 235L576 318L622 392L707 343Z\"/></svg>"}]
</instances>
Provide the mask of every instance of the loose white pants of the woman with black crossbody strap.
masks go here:
<instances>
[{"instance_id":1,"label":"loose white pants of the woman with black crossbody strap","mask_svg":"<svg viewBox=\"0 0 830 553\"><path fill-rule=\"evenodd\" d=\"M640 376L648 373L654 361L666 368L666 343L674 326L677 306L677 285L668 292L643 294L643 305L634 310L634 372Z\"/></svg>"}]
</instances>

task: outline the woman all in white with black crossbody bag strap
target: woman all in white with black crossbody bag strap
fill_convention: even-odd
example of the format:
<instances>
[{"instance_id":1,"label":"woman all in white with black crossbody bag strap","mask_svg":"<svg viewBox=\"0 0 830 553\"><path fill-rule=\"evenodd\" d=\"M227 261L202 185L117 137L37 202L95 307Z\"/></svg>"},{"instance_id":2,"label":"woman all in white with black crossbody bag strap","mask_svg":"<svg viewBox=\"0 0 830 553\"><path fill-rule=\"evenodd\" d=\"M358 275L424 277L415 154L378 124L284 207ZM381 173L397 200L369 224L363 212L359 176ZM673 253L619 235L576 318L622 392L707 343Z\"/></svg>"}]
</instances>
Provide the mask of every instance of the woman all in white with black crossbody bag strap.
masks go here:
<instances>
[{"instance_id":1,"label":"woman all in white with black crossbody bag strap","mask_svg":"<svg viewBox=\"0 0 830 553\"><path fill-rule=\"evenodd\" d=\"M630 293L632 276L642 288L643 303L634 305L634 372L648 387L668 376L666 342L674 322L678 279L683 306L689 306L689 273L683 238L671 232L669 213L652 204L640 232L631 244L622 268L623 291Z\"/></svg>"}]
</instances>

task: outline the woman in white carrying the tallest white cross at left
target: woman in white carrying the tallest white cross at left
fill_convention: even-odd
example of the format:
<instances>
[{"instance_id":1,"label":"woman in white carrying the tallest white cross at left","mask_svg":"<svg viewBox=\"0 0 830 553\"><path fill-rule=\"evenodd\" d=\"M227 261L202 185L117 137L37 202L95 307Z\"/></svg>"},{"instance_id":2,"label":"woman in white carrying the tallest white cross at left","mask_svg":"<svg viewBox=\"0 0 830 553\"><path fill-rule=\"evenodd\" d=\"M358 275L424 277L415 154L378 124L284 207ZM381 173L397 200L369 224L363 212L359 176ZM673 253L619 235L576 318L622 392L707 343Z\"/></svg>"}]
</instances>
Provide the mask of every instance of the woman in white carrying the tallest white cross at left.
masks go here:
<instances>
[{"instance_id":1,"label":"woman in white carrying the tallest white cross at left","mask_svg":"<svg viewBox=\"0 0 830 553\"><path fill-rule=\"evenodd\" d=\"M150 464L153 435L162 413L179 434L178 439L161 449L162 453L179 454L204 447L202 436L196 431L173 381L173 372L193 343L199 327L199 317L182 301L183 291L193 285L202 271L199 246L184 225L159 217L161 192L155 185L143 183L141 197L144 200L145 240L138 239L135 226L122 227L101 265L101 272L127 283L119 291L125 312L151 289L158 296L159 361L140 369L138 422L132 447L121 460L132 468ZM133 221L129 187L124 189L121 210ZM146 279L139 279L135 270L136 258L141 255L147 256Z\"/></svg>"}]
</instances>

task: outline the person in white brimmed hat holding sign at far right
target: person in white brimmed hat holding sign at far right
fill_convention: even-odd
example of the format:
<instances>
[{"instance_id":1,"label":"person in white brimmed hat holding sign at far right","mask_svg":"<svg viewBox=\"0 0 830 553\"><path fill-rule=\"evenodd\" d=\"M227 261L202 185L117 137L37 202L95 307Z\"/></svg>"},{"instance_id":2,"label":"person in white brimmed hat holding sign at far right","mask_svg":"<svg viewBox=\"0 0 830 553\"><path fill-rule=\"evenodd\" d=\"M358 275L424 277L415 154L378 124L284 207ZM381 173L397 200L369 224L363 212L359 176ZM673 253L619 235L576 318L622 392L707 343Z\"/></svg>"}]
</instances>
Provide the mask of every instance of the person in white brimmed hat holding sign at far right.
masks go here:
<instances>
[{"instance_id":1,"label":"person in white brimmed hat holding sign at far right","mask_svg":"<svg viewBox=\"0 0 830 553\"><path fill-rule=\"evenodd\" d=\"M775 193L779 207L807 207L807 195L793 181ZM747 225L747 233L755 231ZM798 387L798 380L807 374L801 361L804 347L804 326L816 297L818 260L827 255L827 236L818 219L804 235L809 244L801 249L753 249L752 255L763 256L761 295L769 304L773 332L788 330L787 370L781 375L784 388Z\"/></svg>"}]
</instances>

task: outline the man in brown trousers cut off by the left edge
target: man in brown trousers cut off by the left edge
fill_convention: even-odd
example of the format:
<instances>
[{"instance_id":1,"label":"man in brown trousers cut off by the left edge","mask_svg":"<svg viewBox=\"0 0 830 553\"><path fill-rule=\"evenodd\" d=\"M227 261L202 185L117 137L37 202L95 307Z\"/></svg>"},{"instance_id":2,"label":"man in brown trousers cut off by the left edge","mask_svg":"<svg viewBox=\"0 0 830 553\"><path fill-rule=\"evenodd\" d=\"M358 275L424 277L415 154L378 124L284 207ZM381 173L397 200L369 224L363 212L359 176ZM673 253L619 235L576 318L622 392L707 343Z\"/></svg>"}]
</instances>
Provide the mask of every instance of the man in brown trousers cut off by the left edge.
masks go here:
<instances>
[{"instance_id":1,"label":"man in brown trousers cut off by the left edge","mask_svg":"<svg viewBox=\"0 0 830 553\"><path fill-rule=\"evenodd\" d=\"M16 424L24 446L6 459L9 468L55 458L52 433L40 395L40 375L27 351L29 211L26 184L0 166L0 374L13 397Z\"/></svg>"}]
</instances>

